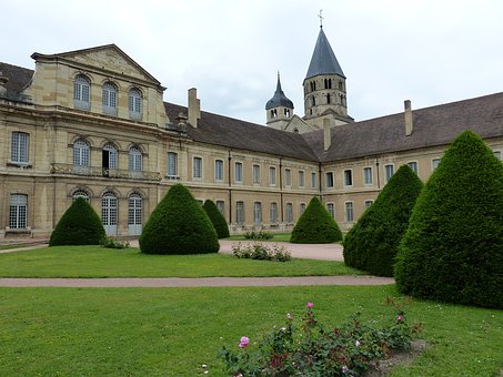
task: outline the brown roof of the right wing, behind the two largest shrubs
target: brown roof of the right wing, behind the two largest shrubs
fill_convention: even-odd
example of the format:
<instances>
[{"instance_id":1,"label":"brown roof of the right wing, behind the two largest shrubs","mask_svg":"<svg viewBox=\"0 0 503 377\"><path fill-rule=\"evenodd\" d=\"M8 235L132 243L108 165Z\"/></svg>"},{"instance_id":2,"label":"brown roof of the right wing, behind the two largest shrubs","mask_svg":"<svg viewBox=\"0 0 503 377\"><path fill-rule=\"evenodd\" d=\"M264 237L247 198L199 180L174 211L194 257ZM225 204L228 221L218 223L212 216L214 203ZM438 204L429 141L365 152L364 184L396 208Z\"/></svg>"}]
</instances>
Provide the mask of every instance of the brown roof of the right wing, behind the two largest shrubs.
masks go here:
<instances>
[{"instance_id":1,"label":"brown roof of the right wing, behind the two largest shrubs","mask_svg":"<svg viewBox=\"0 0 503 377\"><path fill-rule=\"evenodd\" d=\"M446 145L462 131L483 139L503 136L503 93L414 110L413 133L405 136L404 113L331 129L332 144L323 151L323 130L303 134L321 162Z\"/></svg>"}]
</instances>

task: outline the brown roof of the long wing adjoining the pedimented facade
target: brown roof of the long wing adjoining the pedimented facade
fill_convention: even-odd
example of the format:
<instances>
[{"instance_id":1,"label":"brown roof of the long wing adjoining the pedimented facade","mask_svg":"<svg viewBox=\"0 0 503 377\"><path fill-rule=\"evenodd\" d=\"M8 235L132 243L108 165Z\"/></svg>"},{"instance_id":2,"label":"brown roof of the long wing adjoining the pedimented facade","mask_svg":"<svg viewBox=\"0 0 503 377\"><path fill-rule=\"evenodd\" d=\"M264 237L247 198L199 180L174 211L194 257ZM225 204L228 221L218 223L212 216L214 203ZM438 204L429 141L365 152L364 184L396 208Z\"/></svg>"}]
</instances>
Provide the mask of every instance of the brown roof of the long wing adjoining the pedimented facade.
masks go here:
<instances>
[{"instance_id":1,"label":"brown roof of the long wing adjoining the pedimented facade","mask_svg":"<svg viewBox=\"0 0 503 377\"><path fill-rule=\"evenodd\" d=\"M168 116L173 122L187 108L164 102ZM231 149L270 153L306 161L318 161L318 156L301 134L266 128L201 111L198 128L187 126L189 137L197 142L221 145Z\"/></svg>"}]
</instances>

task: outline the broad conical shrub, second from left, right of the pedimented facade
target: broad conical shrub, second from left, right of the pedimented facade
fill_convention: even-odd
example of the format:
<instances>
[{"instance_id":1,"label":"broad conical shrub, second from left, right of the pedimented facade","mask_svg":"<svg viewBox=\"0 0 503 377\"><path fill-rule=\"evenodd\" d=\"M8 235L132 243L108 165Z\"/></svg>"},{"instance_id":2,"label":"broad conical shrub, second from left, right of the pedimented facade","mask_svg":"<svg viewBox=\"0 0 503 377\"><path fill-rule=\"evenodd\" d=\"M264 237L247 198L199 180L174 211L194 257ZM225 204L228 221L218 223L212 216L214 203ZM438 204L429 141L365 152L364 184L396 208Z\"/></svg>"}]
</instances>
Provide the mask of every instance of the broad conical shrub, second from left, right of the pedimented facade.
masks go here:
<instances>
[{"instance_id":1,"label":"broad conical shrub, second from left, right of the pedimented facade","mask_svg":"<svg viewBox=\"0 0 503 377\"><path fill-rule=\"evenodd\" d=\"M220 248L207 213L181 184L153 210L139 241L145 254L207 254Z\"/></svg>"}]
</instances>

